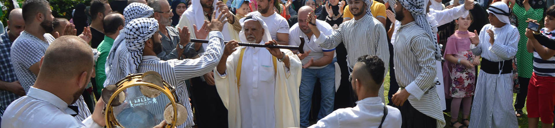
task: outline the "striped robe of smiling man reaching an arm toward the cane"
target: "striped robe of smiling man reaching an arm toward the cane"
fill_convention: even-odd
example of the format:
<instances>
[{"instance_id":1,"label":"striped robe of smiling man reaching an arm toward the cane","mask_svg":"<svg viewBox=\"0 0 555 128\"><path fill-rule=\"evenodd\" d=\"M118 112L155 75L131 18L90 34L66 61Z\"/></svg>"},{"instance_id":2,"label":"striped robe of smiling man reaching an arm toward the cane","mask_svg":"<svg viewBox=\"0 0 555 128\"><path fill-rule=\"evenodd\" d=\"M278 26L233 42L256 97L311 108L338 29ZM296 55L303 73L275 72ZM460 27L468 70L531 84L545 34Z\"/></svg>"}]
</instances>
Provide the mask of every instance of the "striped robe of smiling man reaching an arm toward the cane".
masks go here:
<instances>
[{"instance_id":1,"label":"striped robe of smiling man reaching an arm toward the cane","mask_svg":"<svg viewBox=\"0 0 555 128\"><path fill-rule=\"evenodd\" d=\"M324 30L320 31L323 32ZM387 33L384 25L376 18L365 14L359 20L352 19L341 23L339 29L335 29L331 35L326 36L325 42L316 43L320 44L323 49L334 49L341 42L347 49L349 67L354 67L356 59L362 55L376 55L384 61L384 65L386 65L384 76L387 74L387 69L389 69L387 68L387 65L389 65ZM381 85L379 96L382 102L385 103L384 84Z\"/></svg>"}]
</instances>

